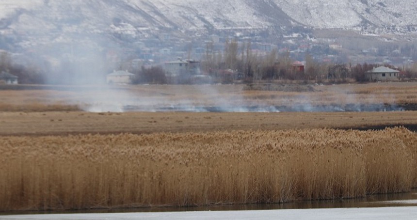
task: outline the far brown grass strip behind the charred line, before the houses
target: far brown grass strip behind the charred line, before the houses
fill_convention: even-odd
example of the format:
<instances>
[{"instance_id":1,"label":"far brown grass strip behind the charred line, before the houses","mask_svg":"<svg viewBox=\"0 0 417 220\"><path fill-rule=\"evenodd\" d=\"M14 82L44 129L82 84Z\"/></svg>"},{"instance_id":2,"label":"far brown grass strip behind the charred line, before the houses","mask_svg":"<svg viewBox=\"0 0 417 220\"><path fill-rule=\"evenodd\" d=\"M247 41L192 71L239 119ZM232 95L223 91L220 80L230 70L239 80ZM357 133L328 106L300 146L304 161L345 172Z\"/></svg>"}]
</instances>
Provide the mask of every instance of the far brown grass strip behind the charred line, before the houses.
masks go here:
<instances>
[{"instance_id":1,"label":"far brown grass strip behind the charred line, before the houses","mask_svg":"<svg viewBox=\"0 0 417 220\"><path fill-rule=\"evenodd\" d=\"M3 88L0 90L0 110L90 110L94 105L108 104L140 105L148 108L172 105L417 104L417 82L314 86L315 92L244 91L243 87L244 85L138 85L44 86L40 89L28 87L20 90Z\"/></svg>"}]
</instances>

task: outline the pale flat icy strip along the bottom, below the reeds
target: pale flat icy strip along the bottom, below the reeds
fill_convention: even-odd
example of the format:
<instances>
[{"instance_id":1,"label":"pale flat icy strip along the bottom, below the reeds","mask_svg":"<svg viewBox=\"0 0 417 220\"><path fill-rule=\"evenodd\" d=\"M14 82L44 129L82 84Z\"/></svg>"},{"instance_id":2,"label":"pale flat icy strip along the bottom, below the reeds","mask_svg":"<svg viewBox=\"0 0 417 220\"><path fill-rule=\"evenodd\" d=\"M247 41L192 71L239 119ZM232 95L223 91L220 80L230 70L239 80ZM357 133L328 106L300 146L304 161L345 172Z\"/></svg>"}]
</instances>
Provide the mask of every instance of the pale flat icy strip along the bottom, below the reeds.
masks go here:
<instances>
[{"instance_id":1,"label":"pale flat icy strip along the bottom, below the reeds","mask_svg":"<svg viewBox=\"0 0 417 220\"><path fill-rule=\"evenodd\" d=\"M148 219L148 220L414 220L417 207L384 208L329 208L329 209L288 209L288 210L247 210L247 211L199 211L199 212L156 212L156 213L110 213L110 214L48 214L0 216L0 220L99 220L99 219Z\"/></svg>"}]
</instances>

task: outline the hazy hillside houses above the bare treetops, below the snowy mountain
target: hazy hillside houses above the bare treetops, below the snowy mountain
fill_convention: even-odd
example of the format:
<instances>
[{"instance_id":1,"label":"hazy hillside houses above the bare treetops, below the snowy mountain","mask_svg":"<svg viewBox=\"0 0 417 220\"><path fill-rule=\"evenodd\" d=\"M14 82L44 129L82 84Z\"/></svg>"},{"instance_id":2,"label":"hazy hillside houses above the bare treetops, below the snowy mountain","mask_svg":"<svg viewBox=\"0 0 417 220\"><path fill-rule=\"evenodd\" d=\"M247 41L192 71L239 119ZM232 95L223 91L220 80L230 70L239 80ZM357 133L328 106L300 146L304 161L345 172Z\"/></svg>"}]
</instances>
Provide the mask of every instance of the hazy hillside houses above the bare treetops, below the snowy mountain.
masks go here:
<instances>
[{"instance_id":1,"label":"hazy hillside houses above the bare treetops, below the snowy mountain","mask_svg":"<svg viewBox=\"0 0 417 220\"><path fill-rule=\"evenodd\" d=\"M288 36L272 38L251 32L222 32L184 39L168 33L156 37L134 41L134 47L124 49L124 61L135 64L154 65L173 58L202 60L208 50L215 53L223 52L225 42L236 40L239 45L251 43L252 53L265 56L272 50L278 53L289 53L294 60L304 61L308 53L317 62L324 63L378 63L396 66L410 65L417 60L417 51L413 43L369 43L368 40L358 43L337 40L331 37L310 39L306 34L289 33ZM242 47L239 48L242 50ZM119 51L109 50L108 57L116 61ZM132 57L134 56L134 58ZM132 57L132 59L127 59Z\"/></svg>"}]
</instances>

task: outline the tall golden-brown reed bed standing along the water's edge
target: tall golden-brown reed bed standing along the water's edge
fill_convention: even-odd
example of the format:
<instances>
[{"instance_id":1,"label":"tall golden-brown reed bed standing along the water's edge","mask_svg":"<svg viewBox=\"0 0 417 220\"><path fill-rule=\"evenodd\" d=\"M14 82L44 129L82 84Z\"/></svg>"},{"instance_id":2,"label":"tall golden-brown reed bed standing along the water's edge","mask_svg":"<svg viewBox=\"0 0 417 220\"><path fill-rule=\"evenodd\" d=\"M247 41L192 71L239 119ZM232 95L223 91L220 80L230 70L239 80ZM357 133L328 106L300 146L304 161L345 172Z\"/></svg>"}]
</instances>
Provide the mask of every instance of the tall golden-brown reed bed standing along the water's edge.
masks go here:
<instances>
[{"instance_id":1,"label":"tall golden-brown reed bed standing along the water's edge","mask_svg":"<svg viewBox=\"0 0 417 220\"><path fill-rule=\"evenodd\" d=\"M286 130L0 138L0 210L281 203L417 186L417 134Z\"/></svg>"}]
</instances>

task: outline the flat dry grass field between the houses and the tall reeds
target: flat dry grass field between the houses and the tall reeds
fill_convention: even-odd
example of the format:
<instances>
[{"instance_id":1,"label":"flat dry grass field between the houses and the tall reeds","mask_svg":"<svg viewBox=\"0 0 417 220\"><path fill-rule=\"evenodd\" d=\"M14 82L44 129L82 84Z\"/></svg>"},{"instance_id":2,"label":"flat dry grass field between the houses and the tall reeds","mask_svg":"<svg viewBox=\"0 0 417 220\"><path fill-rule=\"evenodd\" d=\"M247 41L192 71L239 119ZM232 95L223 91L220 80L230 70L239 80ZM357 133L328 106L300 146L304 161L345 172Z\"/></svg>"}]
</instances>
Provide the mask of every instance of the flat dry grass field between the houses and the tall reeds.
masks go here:
<instances>
[{"instance_id":1,"label":"flat dry grass field between the houses and the tall reeds","mask_svg":"<svg viewBox=\"0 0 417 220\"><path fill-rule=\"evenodd\" d=\"M153 133L219 130L281 130L417 125L415 111L190 113L107 112L102 105L308 106L417 104L416 82L316 86L316 92L243 91L242 85L45 86L0 90L0 135ZM4 89L4 88L3 88ZM103 113L82 111L94 110ZM112 108L111 110L118 110Z\"/></svg>"}]
</instances>

